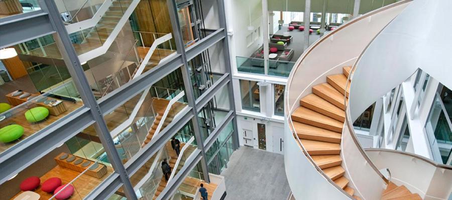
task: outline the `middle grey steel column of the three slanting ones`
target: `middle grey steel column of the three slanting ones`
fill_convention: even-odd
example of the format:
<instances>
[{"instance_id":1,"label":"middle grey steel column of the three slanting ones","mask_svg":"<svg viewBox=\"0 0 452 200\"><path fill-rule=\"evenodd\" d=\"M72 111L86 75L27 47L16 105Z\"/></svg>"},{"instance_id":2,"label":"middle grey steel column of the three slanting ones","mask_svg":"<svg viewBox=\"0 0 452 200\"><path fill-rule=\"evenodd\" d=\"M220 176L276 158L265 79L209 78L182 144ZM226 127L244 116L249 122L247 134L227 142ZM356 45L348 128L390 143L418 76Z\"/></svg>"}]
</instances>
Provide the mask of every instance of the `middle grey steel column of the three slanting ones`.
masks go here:
<instances>
[{"instance_id":1,"label":"middle grey steel column of the three slanting ones","mask_svg":"<svg viewBox=\"0 0 452 200\"><path fill-rule=\"evenodd\" d=\"M201 167L202 172L204 174L204 180L206 182L210 182L209 178L209 168L207 166L207 159L205 156L205 149L204 149L204 142L201 135L201 126L198 121L198 113L196 109L196 103L195 103L195 97L193 92L193 85L191 84L191 78L190 78L190 66L188 66L188 60L187 55L185 52L185 46L184 41L182 38L182 31L180 30L180 23L179 18L177 17L177 6L176 2L174 0L166 0L168 4L168 11L171 18L171 25L173 26L173 34L174 34L174 40L176 41L176 48L177 53L180 53L182 55L182 60L184 65L181 67L182 69L182 78L184 79L184 86L185 86L185 94L187 95L188 99L188 105L192 107L192 112L194 117L191 119L193 123L193 130L196 138L196 143L198 145L198 148L201 150Z\"/></svg>"}]
</instances>

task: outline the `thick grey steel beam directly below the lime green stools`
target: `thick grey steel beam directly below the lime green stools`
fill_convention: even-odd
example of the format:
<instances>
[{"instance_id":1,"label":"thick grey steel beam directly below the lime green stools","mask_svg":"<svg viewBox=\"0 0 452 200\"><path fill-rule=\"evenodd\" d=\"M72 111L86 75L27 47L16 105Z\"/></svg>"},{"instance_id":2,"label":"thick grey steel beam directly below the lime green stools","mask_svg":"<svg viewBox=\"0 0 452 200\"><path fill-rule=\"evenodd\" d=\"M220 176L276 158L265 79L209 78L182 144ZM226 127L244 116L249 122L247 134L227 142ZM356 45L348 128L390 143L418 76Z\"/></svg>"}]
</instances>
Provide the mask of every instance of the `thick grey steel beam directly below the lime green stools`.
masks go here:
<instances>
[{"instance_id":1,"label":"thick grey steel beam directly below the lime green stools","mask_svg":"<svg viewBox=\"0 0 452 200\"><path fill-rule=\"evenodd\" d=\"M8 148L0 157L0 177L2 178L0 184L38 161L93 122L89 108L82 107ZM19 155L20 159L15 155Z\"/></svg>"}]
</instances>

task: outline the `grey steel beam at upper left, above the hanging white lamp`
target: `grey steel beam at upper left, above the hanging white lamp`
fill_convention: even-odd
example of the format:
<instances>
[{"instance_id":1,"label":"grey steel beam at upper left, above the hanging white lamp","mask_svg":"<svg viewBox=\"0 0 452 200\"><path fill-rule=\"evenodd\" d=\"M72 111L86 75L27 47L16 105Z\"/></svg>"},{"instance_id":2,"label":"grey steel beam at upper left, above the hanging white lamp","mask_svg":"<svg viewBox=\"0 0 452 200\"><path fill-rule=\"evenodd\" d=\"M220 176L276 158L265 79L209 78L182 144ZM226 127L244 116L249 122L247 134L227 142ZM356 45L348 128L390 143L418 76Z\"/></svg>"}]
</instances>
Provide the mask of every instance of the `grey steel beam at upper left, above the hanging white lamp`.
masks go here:
<instances>
[{"instance_id":1,"label":"grey steel beam at upper left, above the hanging white lamp","mask_svg":"<svg viewBox=\"0 0 452 200\"><path fill-rule=\"evenodd\" d=\"M0 18L0 48L54 32L49 15L43 9Z\"/></svg>"}]
</instances>

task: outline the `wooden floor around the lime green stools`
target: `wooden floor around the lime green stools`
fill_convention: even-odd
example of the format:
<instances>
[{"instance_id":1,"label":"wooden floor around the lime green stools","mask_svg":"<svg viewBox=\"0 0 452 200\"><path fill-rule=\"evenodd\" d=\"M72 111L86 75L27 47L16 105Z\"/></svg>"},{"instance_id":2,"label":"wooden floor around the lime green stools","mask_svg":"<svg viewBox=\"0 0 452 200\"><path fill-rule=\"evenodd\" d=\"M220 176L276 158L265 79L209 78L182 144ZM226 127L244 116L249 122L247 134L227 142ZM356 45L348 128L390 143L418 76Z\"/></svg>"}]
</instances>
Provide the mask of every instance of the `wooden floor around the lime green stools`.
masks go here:
<instances>
[{"instance_id":1,"label":"wooden floor around the lime green stools","mask_svg":"<svg viewBox=\"0 0 452 200\"><path fill-rule=\"evenodd\" d=\"M48 126L49 124L55 122L56 120L66 116L67 114L71 113L72 111L74 111L75 109L83 106L83 102L81 101L77 101L76 103L70 102L70 101L63 101L64 106L66 106L67 110L58 115L58 116L53 116L50 115L47 117L47 119L38 122L38 123L30 123L27 121L27 119L25 118L25 112L28 109L22 109L22 106L24 105L18 105L21 106L18 110L18 112L15 112L13 116L8 117L6 119L4 119L3 121L0 121L0 127L5 127L7 125L10 124L19 124L22 125L24 127L24 134L22 135L21 138L19 138L16 141L13 142L9 142L9 143L3 143L0 142L0 152L5 151L6 149L10 148L11 146L14 146L16 143L20 142L21 140L27 138L28 136L34 134L36 131L41 130L42 128ZM18 109L18 108L16 108Z\"/></svg>"}]
</instances>

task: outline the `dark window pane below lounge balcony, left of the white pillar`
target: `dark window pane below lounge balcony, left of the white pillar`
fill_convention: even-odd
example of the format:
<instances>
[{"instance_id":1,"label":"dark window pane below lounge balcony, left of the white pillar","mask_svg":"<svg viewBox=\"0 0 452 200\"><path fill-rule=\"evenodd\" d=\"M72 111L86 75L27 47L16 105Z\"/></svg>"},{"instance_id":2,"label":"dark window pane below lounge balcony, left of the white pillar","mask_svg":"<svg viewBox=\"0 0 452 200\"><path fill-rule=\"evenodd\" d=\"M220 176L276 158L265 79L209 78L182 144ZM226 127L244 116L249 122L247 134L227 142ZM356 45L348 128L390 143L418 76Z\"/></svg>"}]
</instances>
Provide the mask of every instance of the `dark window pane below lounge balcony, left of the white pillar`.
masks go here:
<instances>
[{"instance_id":1,"label":"dark window pane below lounge balcony, left of the white pillar","mask_svg":"<svg viewBox=\"0 0 452 200\"><path fill-rule=\"evenodd\" d=\"M243 109L261 111L259 85L257 81L240 80L240 93Z\"/></svg>"}]
</instances>

